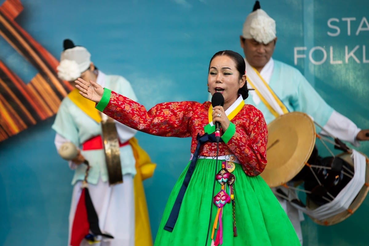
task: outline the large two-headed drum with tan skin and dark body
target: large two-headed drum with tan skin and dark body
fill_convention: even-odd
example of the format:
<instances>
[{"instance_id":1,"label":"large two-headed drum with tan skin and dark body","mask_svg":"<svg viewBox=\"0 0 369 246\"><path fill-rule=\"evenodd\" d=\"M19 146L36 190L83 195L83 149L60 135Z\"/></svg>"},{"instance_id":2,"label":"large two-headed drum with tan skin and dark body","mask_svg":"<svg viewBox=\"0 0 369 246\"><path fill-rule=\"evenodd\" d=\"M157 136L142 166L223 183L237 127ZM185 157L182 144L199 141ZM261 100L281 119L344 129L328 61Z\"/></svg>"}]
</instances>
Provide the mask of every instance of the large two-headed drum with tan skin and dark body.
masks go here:
<instances>
[{"instance_id":1,"label":"large two-headed drum with tan skin and dark body","mask_svg":"<svg viewBox=\"0 0 369 246\"><path fill-rule=\"evenodd\" d=\"M303 191L306 192L306 205L297 198L295 190L293 193L297 199L291 199L286 194L282 194L281 197L285 199L287 197L290 202L298 201L297 208L306 213L309 212L307 210L323 209L326 207L323 206L325 204L330 206L330 202L340 194L354 176L354 161L351 154L342 153L325 158L318 155L315 147L315 139L318 136L315 133L315 125L313 120L304 113L292 112L278 117L268 124L268 134L266 151L268 163L261 176L271 188L283 185L290 189L299 189L296 188L297 185L303 186ZM365 184L369 184L367 157L365 172ZM335 199L335 201L348 201L348 204L352 201L349 209L344 212L341 212L343 210L341 207L331 210L332 213L326 213L325 217L314 217L311 211L308 214L315 223L334 225L346 219L361 205L368 189L367 185L363 185L362 188L356 187L358 194L353 201ZM280 189L276 189L278 190ZM320 208L320 206L323 207ZM323 217L324 219L321 219Z\"/></svg>"}]
</instances>

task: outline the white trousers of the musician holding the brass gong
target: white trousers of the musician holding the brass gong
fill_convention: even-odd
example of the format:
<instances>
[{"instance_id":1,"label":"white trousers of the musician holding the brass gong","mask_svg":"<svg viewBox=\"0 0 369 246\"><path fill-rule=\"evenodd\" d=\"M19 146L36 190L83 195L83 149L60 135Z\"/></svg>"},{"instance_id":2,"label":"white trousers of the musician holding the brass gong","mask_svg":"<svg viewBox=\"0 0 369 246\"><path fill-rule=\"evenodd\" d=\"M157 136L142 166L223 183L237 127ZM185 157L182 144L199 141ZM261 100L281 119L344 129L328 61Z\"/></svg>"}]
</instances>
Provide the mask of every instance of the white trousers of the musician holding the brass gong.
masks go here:
<instances>
[{"instance_id":1,"label":"white trousers of the musician holding the brass gong","mask_svg":"<svg viewBox=\"0 0 369 246\"><path fill-rule=\"evenodd\" d=\"M82 181L73 188L72 204L69 213L69 238L72 230L76 207L81 195ZM108 182L99 180L96 185L88 186L90 197L102 232L114 236L114 239L103 239L93 246L134 246L135 243L135 210L133 194L133 178L131 174L123 176L123 184L109 186ZM85 239L81 246L90 246Z\"/></svg>"}]
</instances>

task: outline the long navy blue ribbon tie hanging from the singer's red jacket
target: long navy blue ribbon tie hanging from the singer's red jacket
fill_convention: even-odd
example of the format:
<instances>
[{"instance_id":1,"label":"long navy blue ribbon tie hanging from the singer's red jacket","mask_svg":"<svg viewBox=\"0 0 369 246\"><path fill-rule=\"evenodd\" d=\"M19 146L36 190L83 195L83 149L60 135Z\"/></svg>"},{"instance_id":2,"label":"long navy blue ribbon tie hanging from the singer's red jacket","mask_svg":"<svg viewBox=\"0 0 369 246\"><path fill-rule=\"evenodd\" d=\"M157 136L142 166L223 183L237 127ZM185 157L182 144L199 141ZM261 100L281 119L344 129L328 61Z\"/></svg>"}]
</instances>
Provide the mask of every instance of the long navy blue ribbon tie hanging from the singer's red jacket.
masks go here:
<instances>
[{"instance_id":1,"label":"long navy blue ribbon tie hanging from the singer's red jacket","mask_svg":"<svg viewBox=\"0 0 369 246\"><path fill-rule=\"evenodd\" d=\"M188 167L188 170L186 172L186 176L184 176L184 180L183 180L182 186L181 186L181 188L179 190L179 193L177 195L176 201L173 204L172 211L170 212L169 218L166 221L166 224L164 226L164 230L168 230L169 232L172 232L174 226L176 225L176 222L177 222L177 219L178 219L178 215L179 215L179 209L180 209L181 204L182 204L184 193L186 192L186 189L187 189L188 184L189 184L189 182L191 180L193 171L195 169L195 164L196 164L196 161L197 161L197 156L199 156L199 150L200 150L201 144L203 144L203 143L205 143L207 141L210 141L212 143L215 143L216 142L215 134L214 133L212 133L212 134L205 133L203 136L200 136L200 134L197 134L196 140L197 140L197 146L196 146L195 153L193 154L191 163L190 163L190 165ZM220 139L219 141L220 142L223 142L222 139Z\"/></svg>"}]
</instances>

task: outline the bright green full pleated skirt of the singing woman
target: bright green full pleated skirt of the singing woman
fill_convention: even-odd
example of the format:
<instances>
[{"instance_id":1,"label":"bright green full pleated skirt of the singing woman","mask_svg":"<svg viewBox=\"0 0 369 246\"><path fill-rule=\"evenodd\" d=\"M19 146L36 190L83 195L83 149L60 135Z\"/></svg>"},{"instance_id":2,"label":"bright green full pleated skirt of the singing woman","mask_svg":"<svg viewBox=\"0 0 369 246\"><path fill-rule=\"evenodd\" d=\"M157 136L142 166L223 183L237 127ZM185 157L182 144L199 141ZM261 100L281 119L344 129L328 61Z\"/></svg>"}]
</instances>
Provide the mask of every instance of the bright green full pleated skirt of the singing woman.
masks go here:
<instances>
[{"instance_id":1,"label":"bright green full pleated skirt of the singing woman","mask_svg":"<svg viewBox=\"0 0 369 246\"><path fill-rule=\"evenodd\" d=\"M217 166L216 168L216 161L212 159L197 160L176 225L169 232L163 228L182 186L189 167L187 165L170 193L154 246L211 245L211 231L218 210L213 197L221 189L221 185L216 182L213 193L213 184L215 174L221 169L221 161ZM223 206L222 214L222 245L300 245L291 222L265 181L260 176L247 176L239 164L236 164L232 174L235 175L233 187L238 235L233 235L232 204L227 203ZM216 233L214 239L215 235Z\"/></svg>"}]
</instances>

